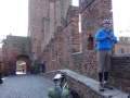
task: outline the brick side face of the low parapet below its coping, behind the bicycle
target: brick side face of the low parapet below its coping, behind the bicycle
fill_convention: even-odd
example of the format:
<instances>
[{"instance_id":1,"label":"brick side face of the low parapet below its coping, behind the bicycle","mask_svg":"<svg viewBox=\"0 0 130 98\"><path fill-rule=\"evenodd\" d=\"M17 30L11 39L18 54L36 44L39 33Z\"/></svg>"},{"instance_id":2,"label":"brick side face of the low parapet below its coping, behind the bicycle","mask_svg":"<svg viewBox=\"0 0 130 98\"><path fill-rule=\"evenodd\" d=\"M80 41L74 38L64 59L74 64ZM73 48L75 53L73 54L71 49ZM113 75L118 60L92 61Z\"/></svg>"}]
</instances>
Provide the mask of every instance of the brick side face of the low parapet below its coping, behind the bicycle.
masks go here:
<instances>
[{"instance_id":1,"label":"brick side face of the low parapet below its coping, behind the bicycle","mask_svg":"<svg viewBox=\"0 0 130 98\"><path fill-rule=\"evenodd\" d=\"M53 81L53 77L60 73L61 73L61 71L57 70L57 71L48 72L46 74L41 74L41 76L43 76L50 81ZM67 75L67 81L68 81L68 85L72 88L74 88L81 98L103 98L103 96L101 96L96 91L92 90L86 84L77 81L76 78L70 77L69 75Z\"/></svg>"}]
</instances>

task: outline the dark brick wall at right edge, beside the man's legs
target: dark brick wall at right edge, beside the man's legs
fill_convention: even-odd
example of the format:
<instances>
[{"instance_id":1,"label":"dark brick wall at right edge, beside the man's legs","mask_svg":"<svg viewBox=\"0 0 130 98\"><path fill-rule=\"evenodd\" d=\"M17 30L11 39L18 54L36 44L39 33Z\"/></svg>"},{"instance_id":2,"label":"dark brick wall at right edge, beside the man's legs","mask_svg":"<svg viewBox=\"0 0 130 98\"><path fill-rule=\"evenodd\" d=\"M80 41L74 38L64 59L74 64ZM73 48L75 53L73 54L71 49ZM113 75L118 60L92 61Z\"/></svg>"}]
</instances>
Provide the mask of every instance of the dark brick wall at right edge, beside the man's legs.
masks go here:
<instances>
[{"instance_id":1,"label":"dark brick wall at right edge, beside the man's legs","mask_svg":"<svg viewBox=\"0 0 130 98\"><path fill-rule=\"evenodd\" d=\"M113 54L110 83L127 93L130 93L130 53Z\"/></svg>"}]
</instances>

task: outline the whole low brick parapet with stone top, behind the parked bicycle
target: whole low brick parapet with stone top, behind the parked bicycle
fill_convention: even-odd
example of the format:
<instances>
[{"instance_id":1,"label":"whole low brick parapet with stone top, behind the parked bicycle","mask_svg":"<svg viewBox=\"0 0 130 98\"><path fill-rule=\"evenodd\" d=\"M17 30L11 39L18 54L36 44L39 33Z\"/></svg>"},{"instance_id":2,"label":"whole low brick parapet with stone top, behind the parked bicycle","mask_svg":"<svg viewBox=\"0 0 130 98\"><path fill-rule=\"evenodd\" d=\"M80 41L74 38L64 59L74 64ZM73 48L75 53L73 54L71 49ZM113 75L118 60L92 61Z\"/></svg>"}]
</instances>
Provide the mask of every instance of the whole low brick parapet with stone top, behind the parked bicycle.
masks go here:
<instances>
[{"instance_id":1,"label":"whole low brick parapet with stone top, behind the parked bicycle","mask_svg":"<svg viewBox=\"0 0 130 98\"><path fill-rule=\"evenodd\" d=\"M48 73L41 74L41 76L53 81L53 77L61 72L66 72L66 78L69 87L75 89L80 98L127 98L128 94L120 91L116 88L114 90L105 89L104 93L99 91L99 82L92 78L89 78L84 75L75 73L70 70L55 70ZM52 87L54 88L54 87Z\"/></svg>"}]
</instances>

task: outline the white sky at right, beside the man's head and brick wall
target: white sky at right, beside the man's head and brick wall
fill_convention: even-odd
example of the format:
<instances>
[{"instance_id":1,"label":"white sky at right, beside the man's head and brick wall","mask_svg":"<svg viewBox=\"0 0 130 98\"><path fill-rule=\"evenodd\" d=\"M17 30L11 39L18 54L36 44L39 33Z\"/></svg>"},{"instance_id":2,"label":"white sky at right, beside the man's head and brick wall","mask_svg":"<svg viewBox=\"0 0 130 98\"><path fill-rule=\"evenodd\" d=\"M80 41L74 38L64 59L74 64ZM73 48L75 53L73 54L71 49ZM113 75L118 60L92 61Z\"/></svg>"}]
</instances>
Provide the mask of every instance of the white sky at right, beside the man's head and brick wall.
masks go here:
<instances>
[{"instance_id":1,"label":"white sky at right, beside the man's head and brick wall","mask_svg":"<svg viewBox=\"0 0 130 98\"><path fill-rule=\"evenodd\" d=\"M130 30L130 0L113 0L114 30L117 36L129 36L129 33L120 34L119 30Z\"/></svg>"}]
</instances>

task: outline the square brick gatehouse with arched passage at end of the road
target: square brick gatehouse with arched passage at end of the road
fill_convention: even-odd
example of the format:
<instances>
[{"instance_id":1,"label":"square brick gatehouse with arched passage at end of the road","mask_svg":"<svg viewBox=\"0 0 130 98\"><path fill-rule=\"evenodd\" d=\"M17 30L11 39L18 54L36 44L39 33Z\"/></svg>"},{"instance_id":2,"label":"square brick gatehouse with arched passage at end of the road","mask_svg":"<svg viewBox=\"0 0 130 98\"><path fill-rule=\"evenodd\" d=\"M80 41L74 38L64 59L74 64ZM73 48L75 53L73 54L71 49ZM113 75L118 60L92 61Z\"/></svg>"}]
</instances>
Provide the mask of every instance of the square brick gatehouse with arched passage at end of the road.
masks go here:
<instances>
[{"instance_id":1,"label":"square brick gatehouse with arched passage at end of the road","mask_svg":"<svg viewBox=\"0 0 130 98\"><path fill-rule=\"evenodd\" d=\"M30 37L6 36L6 39L3 40L2 62L5 65L6 75L10 68L15 71L17 65L22 65L21 69L23 68L28 73L30 57Z\"/></svg>"}]
</instances>

